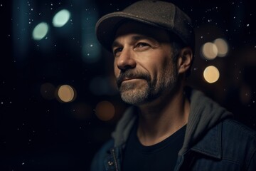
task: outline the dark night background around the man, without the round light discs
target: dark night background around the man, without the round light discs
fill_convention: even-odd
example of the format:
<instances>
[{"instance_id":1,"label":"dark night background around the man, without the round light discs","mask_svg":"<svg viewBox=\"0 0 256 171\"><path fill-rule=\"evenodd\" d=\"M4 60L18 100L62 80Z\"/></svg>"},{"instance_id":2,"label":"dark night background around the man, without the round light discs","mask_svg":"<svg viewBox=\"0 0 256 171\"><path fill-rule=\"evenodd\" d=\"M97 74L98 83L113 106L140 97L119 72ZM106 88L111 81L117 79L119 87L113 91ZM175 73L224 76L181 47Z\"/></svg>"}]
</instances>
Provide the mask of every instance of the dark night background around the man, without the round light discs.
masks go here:
<instances>
[{"instance_id":1,"label":"dark night background around the man, without the round light discs","mask_svg":"<svg viewBox=\"0 0 256 171\"><path fill-rule=\"evenodd\" d=\"M0 1L0 170L89 170L92 156L128 106L112 86L112 58L95 39L95 22L132 2ZM194 21L196 60L189 84L256 130L253 1L172 2ZM71 18L55 28L51 21L60 9L68 9ZM48 23L49 32L35 41L31 33L41 21ZM201 46L215 38L225 38L230 51L206 60ZM213 84L203 79L209 65L220 71ZM46 83L53 88L43 94ZM63 84L76 90L70 103L53 97ZM114 105L111 120L95 115L102 100Z\"/></svg>"}]
</instances>

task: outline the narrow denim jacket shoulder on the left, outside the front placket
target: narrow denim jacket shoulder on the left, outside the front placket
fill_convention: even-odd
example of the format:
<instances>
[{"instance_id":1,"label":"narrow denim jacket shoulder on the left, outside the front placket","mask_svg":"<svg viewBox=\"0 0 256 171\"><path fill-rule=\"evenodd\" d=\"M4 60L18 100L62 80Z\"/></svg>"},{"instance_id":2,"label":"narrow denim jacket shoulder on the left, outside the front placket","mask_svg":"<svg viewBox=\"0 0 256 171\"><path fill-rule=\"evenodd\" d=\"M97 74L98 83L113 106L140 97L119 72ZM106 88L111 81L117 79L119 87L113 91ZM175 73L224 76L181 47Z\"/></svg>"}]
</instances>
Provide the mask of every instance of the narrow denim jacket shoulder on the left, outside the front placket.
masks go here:
<instances>
[{"instance_id":1,"label":"narrow denim jacket shoulder on the left, outside the front placket","mask_svg":"<svg viewBox=\"0 0 256 171\"><path fill-rule=\"evenodd\" d=\"M108 154L108 151L112 147L114 147L113 139L108 140L107 142L105 142L102 145L102 147L100 147L100 150L97 151L97 153L95 154L95 156L92 159L91 171L105 170L103 163L104 163L105 157Z\"/></svg>"}]
</instances>

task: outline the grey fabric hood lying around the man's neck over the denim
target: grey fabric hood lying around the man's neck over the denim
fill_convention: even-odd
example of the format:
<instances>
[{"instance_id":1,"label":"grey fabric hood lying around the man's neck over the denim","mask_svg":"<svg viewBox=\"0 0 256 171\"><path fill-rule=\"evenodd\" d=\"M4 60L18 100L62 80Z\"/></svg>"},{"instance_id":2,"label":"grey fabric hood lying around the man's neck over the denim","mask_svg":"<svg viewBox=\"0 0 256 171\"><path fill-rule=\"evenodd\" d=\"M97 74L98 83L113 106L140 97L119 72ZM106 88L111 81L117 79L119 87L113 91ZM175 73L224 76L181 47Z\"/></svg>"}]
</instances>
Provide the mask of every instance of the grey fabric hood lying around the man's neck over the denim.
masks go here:
<instances>
[{"instance_id":1,"label":"grey fabric hood lying around the man's neck over the denim","mask_svg":"<svg viewBox=\"0 0 256 171\"><path fill-rule=\"evenodd\" d=\"M191 102L191 113L188 117L183 147L179 152L180 155L196 144L210 128L232 115L232 113L206 97L199 90L190 89L186 94ZM137 108L134 106L128 108L122 119L117 123L116 130L112 133L114 146L125 145L136 118Z\"/></svg>"}]
</instances>

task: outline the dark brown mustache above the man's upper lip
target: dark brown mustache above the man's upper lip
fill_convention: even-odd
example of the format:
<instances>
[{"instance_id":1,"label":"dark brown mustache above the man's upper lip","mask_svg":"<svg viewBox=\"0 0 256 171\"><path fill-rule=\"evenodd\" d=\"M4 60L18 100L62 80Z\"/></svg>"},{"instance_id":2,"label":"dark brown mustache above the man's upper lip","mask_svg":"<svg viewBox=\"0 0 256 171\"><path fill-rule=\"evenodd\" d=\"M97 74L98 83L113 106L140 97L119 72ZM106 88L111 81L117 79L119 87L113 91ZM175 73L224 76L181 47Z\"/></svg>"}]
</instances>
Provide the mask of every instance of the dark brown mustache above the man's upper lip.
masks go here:
<instances>
[{"instance_id":1,"label":"dark brown mustache above the man's upper lip","mask_svg":"<svg viewBox=\"0 0 256 171\"><path fill-rule=\"evenodd\" d=\"M144 79L146 81L150 81L151 77L148 73L141 73L138 71L134 71L134 70L126 70L126 71L121 71L121 73L119 74L119 76L117 77L117 87L119 88L122 84L122 81L124 81L125 78L141 78Z\"/></svg>"}]
</instances>

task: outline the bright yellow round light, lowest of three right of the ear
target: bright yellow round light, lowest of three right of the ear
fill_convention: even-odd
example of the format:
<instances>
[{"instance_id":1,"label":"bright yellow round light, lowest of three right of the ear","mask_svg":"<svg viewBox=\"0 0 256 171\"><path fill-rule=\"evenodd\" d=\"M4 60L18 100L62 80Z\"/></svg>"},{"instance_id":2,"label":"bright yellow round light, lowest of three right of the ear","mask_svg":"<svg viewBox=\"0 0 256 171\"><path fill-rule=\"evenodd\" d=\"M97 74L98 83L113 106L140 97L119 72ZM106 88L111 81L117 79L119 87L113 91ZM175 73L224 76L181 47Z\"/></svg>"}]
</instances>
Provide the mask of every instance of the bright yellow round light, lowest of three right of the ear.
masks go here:
<instances>
[{"instance_id":1,"label":"bright yellow round light, lowest of three right of the ear","mask_svg":"<svg viewBox=\"0 0 256 171\"><path fill-rule=\"evenodd\" d=\"M218 78L220 78L220 72L215 66L208 66L203 71L203 78L208 83L215 83L216 81L218 81Z\"/></svg>"}]
</instances>

